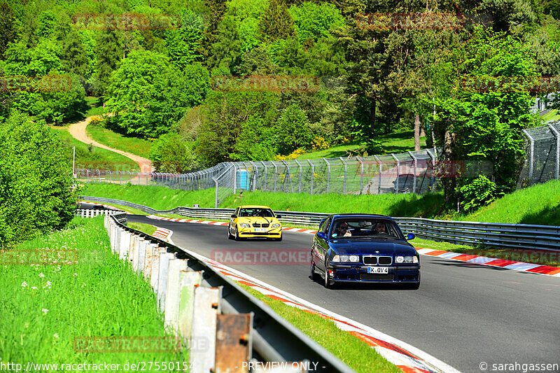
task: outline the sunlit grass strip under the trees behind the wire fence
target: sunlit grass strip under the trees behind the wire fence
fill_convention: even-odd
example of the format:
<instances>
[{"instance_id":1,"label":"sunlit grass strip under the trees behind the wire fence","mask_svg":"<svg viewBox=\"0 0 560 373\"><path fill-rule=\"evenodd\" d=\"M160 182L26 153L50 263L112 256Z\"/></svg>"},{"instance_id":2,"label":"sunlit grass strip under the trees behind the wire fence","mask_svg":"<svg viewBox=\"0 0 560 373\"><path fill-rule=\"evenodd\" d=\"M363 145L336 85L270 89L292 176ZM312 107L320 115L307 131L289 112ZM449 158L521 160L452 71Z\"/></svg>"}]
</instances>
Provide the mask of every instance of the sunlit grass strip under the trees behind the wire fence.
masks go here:
<instances>
[{"instance_id":1,"label":"sunlit grass strip under the trees behind the wire fence","mask_svg":"<svg viewBox=\"0 0 560 373\"><path fill-rule=\"evenodd\" d=\"M375 137L376 140L381 141L381 145L384 147L384 151L380 154L391 154L391 153L404 153L409 150L414 150L414 132L405 131L399 132L398 134L384 134ZM335 158L335 157L348 157L356 156L356 149L359 148L359 144L345 143L342 145L331 146L328 149L316 150L314 152L305 153L297 157L298 160L314 160L318 158ZM426 147L426 137L420 138L421 148Z\"/></svg>"}]
</instances>

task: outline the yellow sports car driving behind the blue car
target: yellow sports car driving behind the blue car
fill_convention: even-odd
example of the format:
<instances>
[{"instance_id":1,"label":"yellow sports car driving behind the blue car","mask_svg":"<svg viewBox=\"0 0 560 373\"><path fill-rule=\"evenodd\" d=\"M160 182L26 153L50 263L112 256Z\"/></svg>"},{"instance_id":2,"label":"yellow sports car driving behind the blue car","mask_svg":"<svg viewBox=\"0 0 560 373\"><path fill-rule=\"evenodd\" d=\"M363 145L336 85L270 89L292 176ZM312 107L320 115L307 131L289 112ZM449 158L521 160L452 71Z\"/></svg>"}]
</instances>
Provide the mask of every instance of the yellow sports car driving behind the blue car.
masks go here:
<instances>
[{"instance_id":1,"label":"yellow sports car driving behind the blue car","mask_svg":"<svg viewBox=\"0 0 560 373\"><path fill-rule=\"evenodd\" d=\"M239 241L248 237L267 237L282 241L281 216L268 206L239 206L228 225L228 239Z\"/></svg>"}]
</instances>

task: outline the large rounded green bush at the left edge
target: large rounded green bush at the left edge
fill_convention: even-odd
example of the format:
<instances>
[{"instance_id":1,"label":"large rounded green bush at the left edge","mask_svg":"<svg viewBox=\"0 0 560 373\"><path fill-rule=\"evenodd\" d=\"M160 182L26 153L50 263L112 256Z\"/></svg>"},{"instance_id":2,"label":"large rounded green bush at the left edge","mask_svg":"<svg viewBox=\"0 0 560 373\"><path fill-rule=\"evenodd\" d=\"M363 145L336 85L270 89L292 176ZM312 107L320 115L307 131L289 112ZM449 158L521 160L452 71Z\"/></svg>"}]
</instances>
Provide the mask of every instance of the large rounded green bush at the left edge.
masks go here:
<instances>
[{"instance_id":1,"label":"large rounded green bush at the left edge","mask_svg":"<svg viewBox=\"0 0 560 373\"><path fill-rule=\"evenodd\" d=\"M72 169L50 129L13 112L0 126L0 243L62 229L73 218Z\"/></svg>"}]
</instances>

